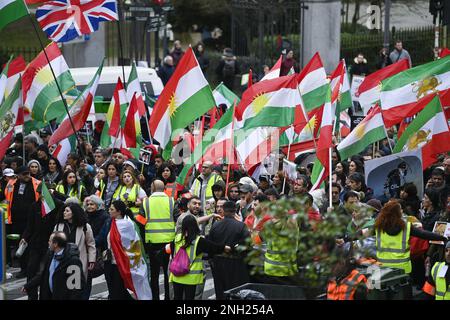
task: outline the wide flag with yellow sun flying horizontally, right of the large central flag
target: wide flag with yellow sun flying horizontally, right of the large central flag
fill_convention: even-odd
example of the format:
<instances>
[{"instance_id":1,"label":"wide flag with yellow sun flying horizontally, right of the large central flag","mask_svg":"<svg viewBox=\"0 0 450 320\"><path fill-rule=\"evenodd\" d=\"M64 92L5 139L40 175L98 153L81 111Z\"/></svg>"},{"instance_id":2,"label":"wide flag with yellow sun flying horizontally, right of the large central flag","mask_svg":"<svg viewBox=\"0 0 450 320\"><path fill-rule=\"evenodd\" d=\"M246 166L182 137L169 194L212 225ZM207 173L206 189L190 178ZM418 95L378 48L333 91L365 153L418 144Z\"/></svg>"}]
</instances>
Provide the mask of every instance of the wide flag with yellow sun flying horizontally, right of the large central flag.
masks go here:
<instances>
[{"instance_id":1,"label":"wide flag with yellow sun flying horizontally, right of the large central flag","mask_svg":"<svg viewBox=\"0 0 450 320\"><path fill-rule=\"evenodd\" d=\"M298 75L258 82L245 90L236 107L238 128L285 127L306 123Z\"/></svg>"}]
</instances>

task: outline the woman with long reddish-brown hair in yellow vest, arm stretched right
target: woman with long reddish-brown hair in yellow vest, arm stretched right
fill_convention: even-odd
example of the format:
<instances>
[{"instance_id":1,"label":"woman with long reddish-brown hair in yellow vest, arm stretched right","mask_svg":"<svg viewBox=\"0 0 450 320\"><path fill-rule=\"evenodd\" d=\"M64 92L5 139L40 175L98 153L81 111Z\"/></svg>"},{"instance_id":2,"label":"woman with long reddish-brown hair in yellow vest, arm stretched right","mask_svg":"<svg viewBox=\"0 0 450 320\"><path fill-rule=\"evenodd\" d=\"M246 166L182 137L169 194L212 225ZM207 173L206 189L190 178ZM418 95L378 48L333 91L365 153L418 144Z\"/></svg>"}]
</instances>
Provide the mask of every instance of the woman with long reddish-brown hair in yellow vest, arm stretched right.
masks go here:
<instances>
[{"instance_id":1,"label":"woman with long reddish-brown hair in yellow vest, arm stretched right","mask_svg":"<svg viewBox=\"0 0 450 320\"><path fill-rule=\"evenodd\" d=\"M377 260L386 267L403 269L411 273L410 238L446 241L439 234L415 228L406 221L400 203L387 202L375 221Z\"/></svg>"}]
</instances>

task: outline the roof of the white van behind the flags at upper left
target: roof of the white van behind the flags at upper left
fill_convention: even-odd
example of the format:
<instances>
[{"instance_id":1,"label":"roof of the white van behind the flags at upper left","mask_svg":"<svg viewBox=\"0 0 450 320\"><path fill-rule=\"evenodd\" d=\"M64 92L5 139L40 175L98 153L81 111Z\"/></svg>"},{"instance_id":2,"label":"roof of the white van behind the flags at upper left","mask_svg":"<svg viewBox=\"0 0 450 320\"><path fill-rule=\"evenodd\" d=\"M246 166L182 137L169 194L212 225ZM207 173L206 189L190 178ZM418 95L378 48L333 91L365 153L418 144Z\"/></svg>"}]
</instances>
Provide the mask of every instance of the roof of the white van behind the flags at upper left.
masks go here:
<instances>
[{"instance_id":1,"label":"roof of the white van behind the flags at upper left","mask_svg":"<svg viewBox=\"0 0 450 320\"><path fill-rule=\"evenodd\" d=\"M125 69L125 78L128 81L128 77L130 76L131 67L126 66ZM156 74L155 69L152 68L144 68L144 67L136 67L139 81L150 82L153 87L153 92L156 96L161 94L164 86L162 84L161 79ZM75 80L75 84L77 86L86 86L89 81L92 80L95 72L97 72L97 68L71 68L70 73L72 74L73 79ZM118 78L123 78L123 72L121 66L115 67L103 67L102 74L100 76L99 84L116 84ZM123 79L122 79L123 81Z\"/></svg>"}]
</instances>

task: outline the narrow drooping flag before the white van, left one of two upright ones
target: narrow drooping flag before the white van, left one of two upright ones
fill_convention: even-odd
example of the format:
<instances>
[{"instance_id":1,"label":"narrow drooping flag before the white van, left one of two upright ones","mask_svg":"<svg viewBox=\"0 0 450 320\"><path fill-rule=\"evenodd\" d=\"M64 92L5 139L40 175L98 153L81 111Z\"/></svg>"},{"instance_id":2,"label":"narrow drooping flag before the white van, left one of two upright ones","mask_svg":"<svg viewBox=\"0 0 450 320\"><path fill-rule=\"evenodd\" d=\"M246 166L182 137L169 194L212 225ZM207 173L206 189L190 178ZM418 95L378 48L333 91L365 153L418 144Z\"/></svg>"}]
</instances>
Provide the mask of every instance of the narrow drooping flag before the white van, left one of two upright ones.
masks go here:
<instances>
[{"instance_id":1,"label":"narrow drooping flag before the white van, left one of two upright ones","mask_svg":"<svg viewBox=\"0 0 450 320\"><path fill-rule=\"evenodd\" d=\"M127 96L120 77L117 80L114 95L109 104L106 114L106 121L100 137L102 148L120 147L120 129L125 122L125 112L127 110Z\"/></svg>"}]
</instances>

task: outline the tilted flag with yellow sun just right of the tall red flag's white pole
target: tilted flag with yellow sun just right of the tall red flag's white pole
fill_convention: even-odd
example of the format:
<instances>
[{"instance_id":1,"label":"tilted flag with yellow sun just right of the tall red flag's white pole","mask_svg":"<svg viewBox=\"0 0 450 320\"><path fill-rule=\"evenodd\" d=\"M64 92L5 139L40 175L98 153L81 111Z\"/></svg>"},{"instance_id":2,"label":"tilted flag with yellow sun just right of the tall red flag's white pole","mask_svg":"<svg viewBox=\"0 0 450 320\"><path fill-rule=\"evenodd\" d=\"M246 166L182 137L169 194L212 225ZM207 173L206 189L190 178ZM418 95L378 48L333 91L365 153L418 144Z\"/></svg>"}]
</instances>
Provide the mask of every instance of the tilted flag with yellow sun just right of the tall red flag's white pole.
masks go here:
<instances>
[{"instance_id":1,"label":"tilted flag with yellow sun just right of the tall red flag's white pole","mask_svg":"<svg viewBox=\"0 0 450 320\"><path fill-rule=\"evenodd\" d=\"M376 105L350 134L339 143L341 159L362 152L370 144L386 138L381 108Z\"/></svg>"}]
</instances>

